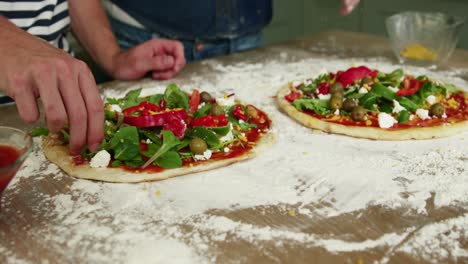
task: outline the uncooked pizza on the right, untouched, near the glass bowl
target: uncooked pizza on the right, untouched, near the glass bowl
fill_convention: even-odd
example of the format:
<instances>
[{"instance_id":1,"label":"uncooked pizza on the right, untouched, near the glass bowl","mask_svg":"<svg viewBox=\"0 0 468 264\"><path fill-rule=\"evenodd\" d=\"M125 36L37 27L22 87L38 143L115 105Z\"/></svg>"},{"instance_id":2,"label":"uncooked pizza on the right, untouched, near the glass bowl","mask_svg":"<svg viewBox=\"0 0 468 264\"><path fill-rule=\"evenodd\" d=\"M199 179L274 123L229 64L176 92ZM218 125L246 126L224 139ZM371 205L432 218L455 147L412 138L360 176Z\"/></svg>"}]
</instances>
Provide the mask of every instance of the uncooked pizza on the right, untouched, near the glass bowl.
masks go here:
<instances>
[{"instance_id":1,"label":"uncooked pizza on the right, untouched, near the glass bowl","mask_svg":"<svg viewBox=\"0 0 468 264\"><path fill-rule=\"evenodd\" d=\"M401 69L365 66L289 82L280 108L301 124L325 132L377 140L429 139L468 131L465 91Z\"/></svg>"}]
</instances>

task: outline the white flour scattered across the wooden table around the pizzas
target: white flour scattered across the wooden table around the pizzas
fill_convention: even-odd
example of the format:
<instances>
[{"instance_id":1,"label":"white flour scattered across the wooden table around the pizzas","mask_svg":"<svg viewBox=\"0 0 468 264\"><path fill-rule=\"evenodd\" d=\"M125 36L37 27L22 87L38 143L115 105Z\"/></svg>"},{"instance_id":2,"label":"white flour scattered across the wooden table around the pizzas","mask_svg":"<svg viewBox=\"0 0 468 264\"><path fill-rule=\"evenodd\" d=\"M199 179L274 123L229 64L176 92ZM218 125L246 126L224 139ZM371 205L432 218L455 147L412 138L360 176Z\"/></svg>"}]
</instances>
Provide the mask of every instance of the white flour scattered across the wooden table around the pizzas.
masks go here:
<instances>
[{"instance_id":1,"label":"white flour scattered across the wooden table around the pizzas","mask_svg":"<svg viewBox=\"0 0 468 264\"><path fill-rule=\"evenodd\" d=\"M353 64L366 64L382 71L391 71L398 65L380 58L367 61L310 58L294 62L287 59L288 56L280 54L265 63L234 65L208 60L203 63L211 69L208 76L180 80L187 90L198 87L218 95L235 91L240 99L264 109L274 120L273 132L277 135L277 143L271 149L234 166L161 182L111 184L74 180L62 193L38 193L36 200L28 201L32 210L39 217L52 220L36 227L28 234L29 239L47 243L56 254L55 260L60 262L210 263L217 260L213 243L232 236L253 245L263 241L276 241L278 245L294 242L335 253L386 246L396 252L417 254L428 262L437 256L455 260L468 256L466 245L458 242L459 238L467 237L466 213L364 241L260 226L209 213L276 206L287 214L291 206L298 206L297 214L304 217L332 217L381 205L410 208L425 215L426 201L434 195L436 208L450 205L467 208L467 133L405 142L315 134L280 113L272 99L290 80L346 69ZM453 71L406 70L468 86ZM160 92L167 84L144 84L143 94ZM113 89L104 91L105 97L123 94ZM37 139L36 143L40 145ZM19 199L23 179L41 181L49 174L54 174L57 180L67 177L59 171L36 147L10 185L4 203ZM316 210L307 207L319 202L330 206ZM17 260L13 252L0 248L8 260Z\"/></svg>"}]
</instances>

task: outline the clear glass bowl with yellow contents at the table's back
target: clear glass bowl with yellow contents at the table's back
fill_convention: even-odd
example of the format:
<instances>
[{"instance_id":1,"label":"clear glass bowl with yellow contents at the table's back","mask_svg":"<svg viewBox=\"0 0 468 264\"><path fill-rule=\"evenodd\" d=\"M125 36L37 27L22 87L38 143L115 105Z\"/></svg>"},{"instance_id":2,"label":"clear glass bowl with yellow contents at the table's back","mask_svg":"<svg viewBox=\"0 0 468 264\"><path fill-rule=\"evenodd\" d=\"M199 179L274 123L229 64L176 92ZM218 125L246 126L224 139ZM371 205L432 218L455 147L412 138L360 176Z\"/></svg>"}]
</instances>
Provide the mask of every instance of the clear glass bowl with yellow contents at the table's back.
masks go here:
<instances>
[{"instance_id":1,"label":"clear glass bowl with yellow contents at the table's back","mask_svg":"<svg viewBox=\"0 0 468 264\"><path fill-rule=\"evenodd\" d=\"M400 63L436 66L452 55L464 20L444 13L402 12L385 24Z\"/></svg>"}]
</instances>

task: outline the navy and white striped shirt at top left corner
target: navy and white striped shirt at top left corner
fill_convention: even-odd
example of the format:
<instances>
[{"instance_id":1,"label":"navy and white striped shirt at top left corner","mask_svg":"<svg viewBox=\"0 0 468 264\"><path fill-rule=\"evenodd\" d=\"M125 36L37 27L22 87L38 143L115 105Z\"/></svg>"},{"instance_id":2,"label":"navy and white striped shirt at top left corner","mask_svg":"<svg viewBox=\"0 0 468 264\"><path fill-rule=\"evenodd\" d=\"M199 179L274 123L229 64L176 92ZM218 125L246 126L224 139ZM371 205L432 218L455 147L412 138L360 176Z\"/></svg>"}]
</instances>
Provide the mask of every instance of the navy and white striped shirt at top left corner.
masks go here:
<instances>
[{"instance_id":1,"label":"navy and white striped shirt at top left corner","mask_svg":"<svg viewBox=\"0 0 468 264\"><path fill-rule=\"evenodd\" d=\"M65 38L70 24L67 0L0 0L0 16L53 46L70 52Z\"/></svg>"}]
</instances>

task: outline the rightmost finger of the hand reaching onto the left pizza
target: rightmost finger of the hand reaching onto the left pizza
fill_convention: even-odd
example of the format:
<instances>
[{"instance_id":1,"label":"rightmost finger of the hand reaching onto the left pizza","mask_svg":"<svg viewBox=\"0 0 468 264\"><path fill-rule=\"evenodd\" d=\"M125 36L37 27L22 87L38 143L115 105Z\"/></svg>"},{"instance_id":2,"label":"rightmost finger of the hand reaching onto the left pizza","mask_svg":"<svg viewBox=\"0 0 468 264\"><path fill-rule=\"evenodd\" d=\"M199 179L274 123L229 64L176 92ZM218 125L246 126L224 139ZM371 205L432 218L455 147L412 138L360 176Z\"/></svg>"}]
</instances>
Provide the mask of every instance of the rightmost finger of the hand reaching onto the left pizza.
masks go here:
<instances>
[{"instance_id":1,"label":"rightmost finger of the hand reaching onto the left pizza","mask_svg":"<svg viewBox=\"0 0 468 264\"><path fill-rule=\"evenodd\" d=\"M78 83L88 114L88 147L91 151L97 151L104 138L104 106L88 68L81 69Z\"/></svg>"}]
</instances>

